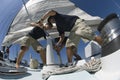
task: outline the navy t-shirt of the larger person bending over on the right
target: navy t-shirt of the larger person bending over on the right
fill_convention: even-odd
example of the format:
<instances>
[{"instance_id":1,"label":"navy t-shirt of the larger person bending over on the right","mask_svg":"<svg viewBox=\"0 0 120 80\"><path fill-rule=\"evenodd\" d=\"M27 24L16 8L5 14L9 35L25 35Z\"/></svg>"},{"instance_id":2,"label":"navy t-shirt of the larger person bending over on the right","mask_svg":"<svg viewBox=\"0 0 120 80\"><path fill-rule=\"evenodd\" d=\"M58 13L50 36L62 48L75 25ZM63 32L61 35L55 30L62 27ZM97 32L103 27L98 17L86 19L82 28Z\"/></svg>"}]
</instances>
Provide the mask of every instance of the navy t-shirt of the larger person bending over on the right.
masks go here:
<instances>
[{"instance_id":1,"label":"navy t-shirt of the larger person bending over on the right","mask_svg":"<svg viewBox=\"0 0 120 80\"><path fill-rule=\"evenodd\" d=\"M79 18L78 16L63 15L59 13L56 13L53 17L55 19L59 35L63 34L65 31L71 31L76 20Z\"/></svg>"}]
</instances>

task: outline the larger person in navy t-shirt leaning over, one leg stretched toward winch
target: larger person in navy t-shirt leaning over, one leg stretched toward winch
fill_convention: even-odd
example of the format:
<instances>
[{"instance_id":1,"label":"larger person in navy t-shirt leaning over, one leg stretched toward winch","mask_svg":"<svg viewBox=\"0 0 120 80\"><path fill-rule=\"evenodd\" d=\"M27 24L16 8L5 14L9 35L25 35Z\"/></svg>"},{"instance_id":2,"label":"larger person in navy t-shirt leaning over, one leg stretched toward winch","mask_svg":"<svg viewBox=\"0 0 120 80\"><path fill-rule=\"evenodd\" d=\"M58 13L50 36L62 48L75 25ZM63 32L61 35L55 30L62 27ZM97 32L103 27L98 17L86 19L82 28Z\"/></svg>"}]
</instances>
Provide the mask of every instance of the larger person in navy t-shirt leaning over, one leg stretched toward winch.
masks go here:
<instances>
[{"instance_id":1,"label":"larger person in navy t-shirt leaning over, one leg stretched toward winch","mask_svg":"<svg viewBox=\"0 0 120 80\"><path fill-rule=\"evenodd\" d=\"M66 53L69 64L72 64L73 55L77 54L77 47L81 38L84 40L94 40L102 44L102 38L95 35L91 27L78 16L65 15L55 10L50 10L46 12L39 21L44 22L45 19L47 19L49 23L55 23L57 26L60 39L55 45L56 49L61 46L65 38L65 32L70 32L66 41Z\"/></svg>"}]
</instances>

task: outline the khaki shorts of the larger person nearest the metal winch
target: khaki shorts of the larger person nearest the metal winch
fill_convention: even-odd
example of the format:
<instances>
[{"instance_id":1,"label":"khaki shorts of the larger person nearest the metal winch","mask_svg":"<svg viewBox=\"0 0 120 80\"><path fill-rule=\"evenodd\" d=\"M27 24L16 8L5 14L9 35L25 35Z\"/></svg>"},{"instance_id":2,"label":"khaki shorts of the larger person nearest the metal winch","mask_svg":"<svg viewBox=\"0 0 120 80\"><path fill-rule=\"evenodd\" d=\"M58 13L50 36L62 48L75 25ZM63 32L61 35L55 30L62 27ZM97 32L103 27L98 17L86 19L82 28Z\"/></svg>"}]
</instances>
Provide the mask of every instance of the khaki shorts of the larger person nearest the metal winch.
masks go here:
<instances>
[{"instance_id":1,"label":"khaki shorts of the larger person nearest the metal winch","mask_svg":"<svg viewBox=\"0 0 120 80\"><path fill-rule=\"evenodd\" d=\"M66 41L66 47L75 46L77 48L80 39L85 41L93 40L94 38L95 34L92 28L88 26L82 19L77 19Z\"/></svg>"}]
</instances>

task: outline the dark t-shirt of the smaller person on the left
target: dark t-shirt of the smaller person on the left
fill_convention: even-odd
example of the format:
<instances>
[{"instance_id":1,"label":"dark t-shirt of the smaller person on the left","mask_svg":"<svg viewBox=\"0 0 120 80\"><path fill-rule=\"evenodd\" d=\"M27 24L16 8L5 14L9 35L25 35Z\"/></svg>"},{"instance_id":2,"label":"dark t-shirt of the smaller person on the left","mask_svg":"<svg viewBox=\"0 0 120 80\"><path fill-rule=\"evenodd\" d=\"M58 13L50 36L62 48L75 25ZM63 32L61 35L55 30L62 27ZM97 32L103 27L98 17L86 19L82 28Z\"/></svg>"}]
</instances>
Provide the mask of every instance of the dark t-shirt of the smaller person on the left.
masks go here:
<instances>
[{"instance_id":1,"label":"dark t-shirt of the smaller person on the left","mask_svg":"<svg viewBox=\"0 0 120 80\"><path fill-rule=\"evenodd\" d=\"M28 34L34 39L39 39L41 37L46 38L44 30L40 27L34 27Z\"/></svg>"}]
</instances>

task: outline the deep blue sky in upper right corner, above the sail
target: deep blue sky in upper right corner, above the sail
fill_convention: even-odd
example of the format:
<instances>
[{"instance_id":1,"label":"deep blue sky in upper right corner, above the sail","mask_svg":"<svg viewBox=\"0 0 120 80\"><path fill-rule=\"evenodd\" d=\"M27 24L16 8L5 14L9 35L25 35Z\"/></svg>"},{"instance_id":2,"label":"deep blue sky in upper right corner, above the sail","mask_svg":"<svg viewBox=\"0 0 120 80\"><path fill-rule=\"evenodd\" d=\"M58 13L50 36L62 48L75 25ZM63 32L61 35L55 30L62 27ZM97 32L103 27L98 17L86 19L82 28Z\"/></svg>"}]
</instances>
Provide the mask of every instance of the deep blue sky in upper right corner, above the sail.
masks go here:
<instances>
[{"instance_id":1,"label":"deep blue sky in upper right corner, above the sail","mask_svg":"<svg viewBox=\"0 0 120 80\"><path fill-rule=\"evenodd\" d=\"M71 0L81 9L93 16L104 18L110 13L120 14L119 0Z\"/></svg>"}]
</instances>

